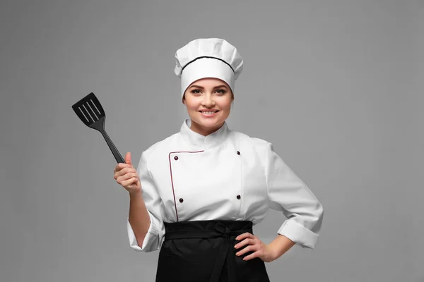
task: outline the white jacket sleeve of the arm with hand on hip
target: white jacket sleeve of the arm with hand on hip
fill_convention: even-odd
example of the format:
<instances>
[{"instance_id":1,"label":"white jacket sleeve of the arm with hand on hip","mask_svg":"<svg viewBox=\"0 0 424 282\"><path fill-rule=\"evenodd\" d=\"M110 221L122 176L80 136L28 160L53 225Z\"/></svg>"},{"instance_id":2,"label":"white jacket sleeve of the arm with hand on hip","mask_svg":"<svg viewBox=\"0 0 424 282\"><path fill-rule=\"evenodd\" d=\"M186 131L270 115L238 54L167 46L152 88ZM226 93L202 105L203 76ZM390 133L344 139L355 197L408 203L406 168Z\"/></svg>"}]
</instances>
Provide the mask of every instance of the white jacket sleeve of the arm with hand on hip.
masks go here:
<instances>
[{"instance_id":1,"label":"white jacket sleeve of the arm with hand on hip","mask_svg":"<svg viewBox=\"0 0 424 282\"><path fill-rule=\"evenodd\" d=\"M270 208L283 212L287 218L277 233L303 248L314 249L324 216L322 204L273 151L271 143L266 145L265 161Z\"/></svg>"}]
</instances>

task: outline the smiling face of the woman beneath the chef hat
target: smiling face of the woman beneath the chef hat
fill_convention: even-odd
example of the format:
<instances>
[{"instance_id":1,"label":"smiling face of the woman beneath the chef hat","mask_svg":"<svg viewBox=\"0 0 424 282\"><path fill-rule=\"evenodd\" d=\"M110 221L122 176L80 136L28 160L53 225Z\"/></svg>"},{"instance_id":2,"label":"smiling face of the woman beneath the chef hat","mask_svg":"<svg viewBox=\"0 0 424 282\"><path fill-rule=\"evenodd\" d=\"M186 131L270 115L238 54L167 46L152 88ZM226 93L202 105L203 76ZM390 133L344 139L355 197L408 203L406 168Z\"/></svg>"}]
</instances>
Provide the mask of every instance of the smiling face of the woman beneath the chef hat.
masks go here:
<instances>
[{"instance_id":1,"label":"smiling face of the woman beneath the chef hat","mask_svg":"<svg viewBox=\"0 0 424 282\"><path fill-rule=\"evenodd\" d=\"M230 87L223 80L202 78L192 82L182 100L192 119L191 129L204 136L218 130L230 115L233 99ZM214 114L204 111L213 111Z\"/></svg>"}]
</instances>

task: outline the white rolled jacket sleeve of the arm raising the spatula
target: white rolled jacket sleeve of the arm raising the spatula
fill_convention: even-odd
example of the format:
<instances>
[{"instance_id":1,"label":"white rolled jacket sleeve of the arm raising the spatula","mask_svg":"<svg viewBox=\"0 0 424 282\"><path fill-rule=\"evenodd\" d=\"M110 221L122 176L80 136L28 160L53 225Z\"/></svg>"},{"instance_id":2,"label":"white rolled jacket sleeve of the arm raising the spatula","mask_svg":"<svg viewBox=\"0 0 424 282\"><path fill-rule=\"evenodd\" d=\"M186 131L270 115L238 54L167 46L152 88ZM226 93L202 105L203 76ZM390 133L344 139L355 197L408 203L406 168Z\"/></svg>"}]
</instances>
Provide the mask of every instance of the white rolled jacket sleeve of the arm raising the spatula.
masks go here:
<instances>
[{"instance_id":1,"label":"white rolled jacket sleeve of the arm raising the spatula","mask_svg":"<svg viewBox=\"0 0 424 282\"><path fill-rule=\"evenodd\" d=\"M141 153L137 172L140 176L141 189L143 190L143 200L146 204L148 215L150 216L151 224L148 228L146 237L143 240L143 245L140 247L137 243L134 230L129 223L129 218L126 219L126 229L128 232L129 245L139 252L153 252L159 250L165 235L165 226L163 224L163 202L155 187L153 178L148 170L146 152Z\"/></svg>"}]
</instances>

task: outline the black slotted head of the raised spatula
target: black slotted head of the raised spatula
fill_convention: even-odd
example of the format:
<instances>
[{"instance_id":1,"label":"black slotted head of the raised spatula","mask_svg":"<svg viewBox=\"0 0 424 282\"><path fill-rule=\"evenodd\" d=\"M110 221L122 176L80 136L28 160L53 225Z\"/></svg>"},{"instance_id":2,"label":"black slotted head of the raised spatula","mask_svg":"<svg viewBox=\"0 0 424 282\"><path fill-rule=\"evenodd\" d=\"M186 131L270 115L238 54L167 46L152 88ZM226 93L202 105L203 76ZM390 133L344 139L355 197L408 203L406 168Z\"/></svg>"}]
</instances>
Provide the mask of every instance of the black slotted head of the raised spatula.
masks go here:
<instances>
[{"instance_id":1,"label":"black slotted head of the raised spatula","mask_svg":"<svg viewBox=\"0 0 424 282\"><path fill-rule=\"evenodd\" d=\"M105 111L93 92L73 104L72 109L88 127L102 129L105 123Z\"/></svg>"}]
</instances>

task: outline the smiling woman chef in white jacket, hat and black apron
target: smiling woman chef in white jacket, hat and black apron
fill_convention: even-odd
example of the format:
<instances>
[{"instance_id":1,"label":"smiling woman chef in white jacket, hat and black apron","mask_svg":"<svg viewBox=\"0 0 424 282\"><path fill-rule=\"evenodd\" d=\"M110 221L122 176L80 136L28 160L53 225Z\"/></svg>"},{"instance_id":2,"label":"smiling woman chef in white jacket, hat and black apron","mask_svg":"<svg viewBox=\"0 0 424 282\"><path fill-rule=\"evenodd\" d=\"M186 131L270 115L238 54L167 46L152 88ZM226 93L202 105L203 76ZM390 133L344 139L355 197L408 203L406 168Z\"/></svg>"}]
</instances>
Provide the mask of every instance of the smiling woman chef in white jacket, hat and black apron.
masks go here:
<instances>
[{"instance_id":1,"label":"smiling woman chef in white jacket, hat and black apron","mask_svg":"<svg viewBox=\"0 0 424 282\"><path fill-rule=\"evenodd\" d=\"M134 250L160 250L156 281L269 281L264 262L296 243L313 249L323 207L273 145L230 130L225 119L243 60L218 38L178 49L175 73L189 118L178 133L126 154L114 178L129 191L127 229ZM277 238L252 232L269 209L287 218Z\"/></svg>"}]
</instances>

